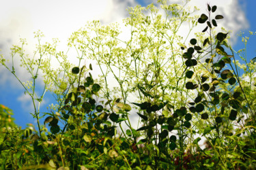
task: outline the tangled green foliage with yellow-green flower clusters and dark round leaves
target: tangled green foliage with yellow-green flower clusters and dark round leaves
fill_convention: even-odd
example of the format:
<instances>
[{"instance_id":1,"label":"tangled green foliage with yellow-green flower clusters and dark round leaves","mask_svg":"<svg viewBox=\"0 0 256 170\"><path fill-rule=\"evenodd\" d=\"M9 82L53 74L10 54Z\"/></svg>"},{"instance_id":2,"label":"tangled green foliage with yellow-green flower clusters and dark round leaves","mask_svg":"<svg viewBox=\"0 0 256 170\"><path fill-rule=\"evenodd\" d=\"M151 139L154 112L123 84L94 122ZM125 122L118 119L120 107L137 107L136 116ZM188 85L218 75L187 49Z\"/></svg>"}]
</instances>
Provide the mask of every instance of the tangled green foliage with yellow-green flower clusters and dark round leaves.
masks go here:
<instances>
[{"instance_id":1,"label":"tangled green foliage with yellow-green flower clusters and dark round leaves","mask_svg":"<svg viewBox=\"0 0 256 170\"><path fill-rule=\"evenodd\" d=\"M68 45L79 65L57 52L56 39L42 45L40 32L33 58L25 55L24 39L11 49L12 69L1 58L16 76L13 58L20 56L31 74L25 84L16 78L38 122L38 131L31 124L2 129L2 169L255 169L254 61L243 56L246 48L229 46L229 33L214 29L223 19L215 5L197 19L186 3L159 3L164 14L154 5L128 9L128 40L119 38L117 24L98 21L74 32ZM198 23L205 29L187 40ZM182 24L190 25L185 39L178 32ZM246 45L248 37L242 41ZM59 68L52 67L53 58ZM81 64L89 59L99 66L97 80L91 64ZM37 95L40 73L45 85ZM41 113L47 90L58 104ZM137 127L132 112L140 118Z\"/></svg>"}]
</instances>

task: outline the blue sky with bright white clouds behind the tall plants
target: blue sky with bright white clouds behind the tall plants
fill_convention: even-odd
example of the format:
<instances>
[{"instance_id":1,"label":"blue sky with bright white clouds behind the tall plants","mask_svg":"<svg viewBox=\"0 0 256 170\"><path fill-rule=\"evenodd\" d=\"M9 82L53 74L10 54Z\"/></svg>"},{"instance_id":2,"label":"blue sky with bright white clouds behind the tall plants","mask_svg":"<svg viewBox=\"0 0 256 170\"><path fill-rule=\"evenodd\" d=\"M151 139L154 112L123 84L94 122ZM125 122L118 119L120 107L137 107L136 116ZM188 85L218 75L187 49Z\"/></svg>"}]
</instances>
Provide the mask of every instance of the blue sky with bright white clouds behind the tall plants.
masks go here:
<instances>
[{"instance_id":1,"label":"blue sky with bright white clouds behind the tall plants","mask_svg":"<svg viewBox=\"0 0 256 170\"><path fill-rule=\"evenodd\" d=\"M208 0L210 1L210 0ZM201 8L205 12L206 0L191 0L190 6ZM174 2L177 2L175 0ZM72 32L83 27L87 21L100 20L102 24L122 22L128 17L127 7L156 3L153 0L0 0L0 54L10 58L12 44L18 44L20 38L26 38L28 51L33 51L36 43L33 32L39 29L46 36L46 41L58 38L60 46L65 48L68 37ZM235 50L244 48L240 31L248 35L248 31L256 31L255 0L212 0L210 5L217 5L218 12L225 16L222 26L233 30L232 44ZM201 14L199 12L199 14ZM199 29L198 31L201 31ZM248 42L248 60L256 56L256 37ZM26 72L16 70L18 76L26 81ZM53 103L51 94L46 93L41 112L49 112L46 107ZM12 73L0 66L0 104L10 107L14 112L15 122L24 129L27 123L35 124L30 112L33 112L31 99L24 95L24 89L14 78ZM41 121L43 123L43 120Z\"/></svg>"}]
</instances>

